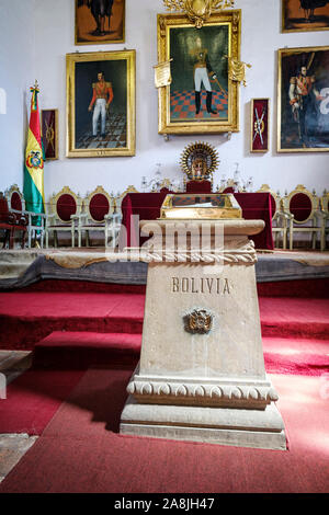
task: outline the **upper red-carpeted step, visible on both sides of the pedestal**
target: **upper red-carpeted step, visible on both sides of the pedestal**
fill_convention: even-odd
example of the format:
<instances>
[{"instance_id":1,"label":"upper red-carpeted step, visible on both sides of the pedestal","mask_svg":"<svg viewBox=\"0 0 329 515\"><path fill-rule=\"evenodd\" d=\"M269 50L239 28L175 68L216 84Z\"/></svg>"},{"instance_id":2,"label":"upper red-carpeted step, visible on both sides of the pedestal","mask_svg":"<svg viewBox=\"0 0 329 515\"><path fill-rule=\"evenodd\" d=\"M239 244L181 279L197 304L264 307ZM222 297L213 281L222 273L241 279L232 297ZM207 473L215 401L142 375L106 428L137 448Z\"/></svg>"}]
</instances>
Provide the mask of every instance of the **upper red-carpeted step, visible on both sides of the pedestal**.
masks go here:
<instances>
[{"instance_id":1,"label":"upper red-carpeted step, visible on both sides of the pedestal","mask_svg":"<svg viewBox=\"0 0 329 515\"><path fill-rule=\"evenodd\" d=\"M328 298L259 300L264 337L329 337ZM0 293L0 347L33 348L61 330L141 333L144 304L141 294Z\"/></svg>"}]
</instances>

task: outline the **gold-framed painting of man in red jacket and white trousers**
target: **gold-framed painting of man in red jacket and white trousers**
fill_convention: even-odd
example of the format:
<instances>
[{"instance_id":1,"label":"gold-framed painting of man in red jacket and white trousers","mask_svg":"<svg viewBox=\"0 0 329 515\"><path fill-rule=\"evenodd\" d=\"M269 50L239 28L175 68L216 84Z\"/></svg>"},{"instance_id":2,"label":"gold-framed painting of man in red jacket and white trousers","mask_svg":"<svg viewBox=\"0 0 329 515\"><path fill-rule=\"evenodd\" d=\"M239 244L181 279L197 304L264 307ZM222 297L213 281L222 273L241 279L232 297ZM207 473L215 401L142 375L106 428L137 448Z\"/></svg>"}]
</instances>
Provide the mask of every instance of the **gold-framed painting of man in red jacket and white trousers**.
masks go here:
<instances>
[{"instance_id":1,"label":"gold-framed painting of man in red jacket and white trousers","mask_svg":"<svg viewBox=\"0 0 329 515\"><path fill-rule=\"evenodd\" d=\"M67 157L135 156L135 50L67 55Z\"/></svg>"}]
</instances>

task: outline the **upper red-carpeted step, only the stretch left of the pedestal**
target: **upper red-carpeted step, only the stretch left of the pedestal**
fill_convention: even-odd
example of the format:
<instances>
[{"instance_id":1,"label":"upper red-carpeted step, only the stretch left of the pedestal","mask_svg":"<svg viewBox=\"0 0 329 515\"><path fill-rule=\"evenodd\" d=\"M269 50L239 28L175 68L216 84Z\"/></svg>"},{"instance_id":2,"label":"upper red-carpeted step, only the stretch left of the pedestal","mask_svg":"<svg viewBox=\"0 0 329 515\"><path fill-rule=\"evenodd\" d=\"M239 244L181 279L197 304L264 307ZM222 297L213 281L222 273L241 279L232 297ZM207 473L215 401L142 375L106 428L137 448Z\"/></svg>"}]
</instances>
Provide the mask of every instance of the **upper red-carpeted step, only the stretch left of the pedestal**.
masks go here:
<instances>
[{"instance_id":1,"label":"upper red-carpeted step, only the stretch left of the pedestal","mask_svg":"<svg viewBox=\"0 0 329 515\"><path fill-rule=\"evenodd\" d=\"M141 333L139 294L0 294L0 347L33 348L53 331Z\"/></svg>"}]
</instances>

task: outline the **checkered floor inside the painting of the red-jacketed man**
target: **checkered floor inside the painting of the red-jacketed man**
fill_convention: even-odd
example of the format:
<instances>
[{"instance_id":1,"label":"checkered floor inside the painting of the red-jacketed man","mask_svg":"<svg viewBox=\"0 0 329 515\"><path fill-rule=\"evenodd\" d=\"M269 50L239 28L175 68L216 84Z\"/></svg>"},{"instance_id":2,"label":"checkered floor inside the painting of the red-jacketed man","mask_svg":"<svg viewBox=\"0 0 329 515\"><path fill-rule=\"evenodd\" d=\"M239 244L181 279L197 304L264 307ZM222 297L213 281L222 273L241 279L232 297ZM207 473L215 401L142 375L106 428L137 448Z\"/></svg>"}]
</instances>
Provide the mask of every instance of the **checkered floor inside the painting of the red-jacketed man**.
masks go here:
<instances>
[{"instance_id":1,"label":"checkered floor inside the painting of the red-jacketed man","mask_svg":"<svg viewBox=\"0 0 329 515\"><path fill-rule=\"evenodd\" d=\"M91 124L90 124L91 125ZM98 136L92 136L92 128L77 139L77 149L103 149L124 148L127 146L127 122L123 113L112 113L106 119L105 136L100 135L100 123Z\"/></svg>"}]
</instances>

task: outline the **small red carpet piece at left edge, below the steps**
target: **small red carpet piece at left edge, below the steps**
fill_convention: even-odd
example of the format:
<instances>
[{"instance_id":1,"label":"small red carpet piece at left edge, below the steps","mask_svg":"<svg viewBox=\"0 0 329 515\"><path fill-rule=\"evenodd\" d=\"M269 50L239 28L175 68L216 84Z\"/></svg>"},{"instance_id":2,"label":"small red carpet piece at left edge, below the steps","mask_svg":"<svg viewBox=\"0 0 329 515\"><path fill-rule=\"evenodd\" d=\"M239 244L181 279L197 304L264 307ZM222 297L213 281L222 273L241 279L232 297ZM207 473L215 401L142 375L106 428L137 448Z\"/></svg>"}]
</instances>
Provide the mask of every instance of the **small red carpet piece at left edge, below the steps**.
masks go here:
<instances>
[{"instance_id":1,"label":"small red carpet piece at left edge, below the steps","mask_svg":"<svg viewBox=\"0 0 329 515\"><path fill-rule=\"evenodd\" d=\"M27 370L0 400L0 434L41 435L84 371Z\"/></svg>"}]
</instances>

